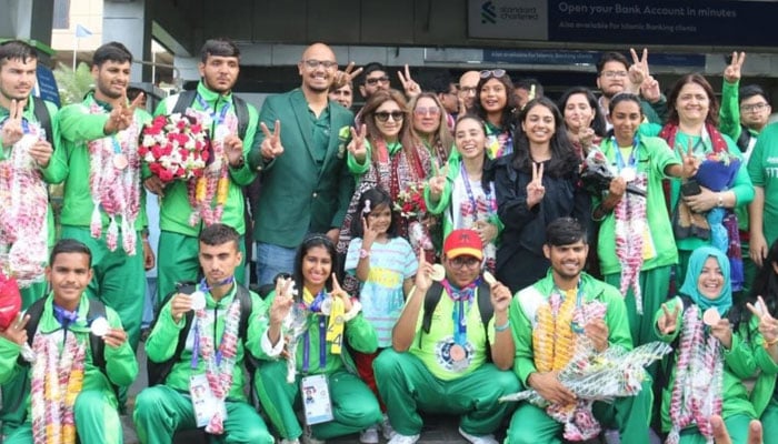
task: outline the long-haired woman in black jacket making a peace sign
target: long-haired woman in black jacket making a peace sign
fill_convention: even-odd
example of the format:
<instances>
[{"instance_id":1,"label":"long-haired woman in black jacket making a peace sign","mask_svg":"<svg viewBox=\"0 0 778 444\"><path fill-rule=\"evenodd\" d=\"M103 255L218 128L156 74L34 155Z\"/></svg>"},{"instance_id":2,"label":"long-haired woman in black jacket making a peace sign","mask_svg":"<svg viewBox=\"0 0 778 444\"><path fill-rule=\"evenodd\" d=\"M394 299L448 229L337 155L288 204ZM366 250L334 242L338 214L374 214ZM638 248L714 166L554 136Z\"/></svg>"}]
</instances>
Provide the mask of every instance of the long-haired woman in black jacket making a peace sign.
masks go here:
<instances>
[{"instance_id":1,"label":"long-haired woman in black jacket making a peace sign","mask_svg":"<svg viewBox=\"0 0 778 444\"><path fill-rule=\"evenodd\" d=\"M546 275L546 226L562 216L587 224L589 196L579 186L580 158L562 115L547 98L530 100L519 114L516 150L491 168L497 214L505 224L497 250L497 279L517 292Z\"/></svg>"}]
</instances>

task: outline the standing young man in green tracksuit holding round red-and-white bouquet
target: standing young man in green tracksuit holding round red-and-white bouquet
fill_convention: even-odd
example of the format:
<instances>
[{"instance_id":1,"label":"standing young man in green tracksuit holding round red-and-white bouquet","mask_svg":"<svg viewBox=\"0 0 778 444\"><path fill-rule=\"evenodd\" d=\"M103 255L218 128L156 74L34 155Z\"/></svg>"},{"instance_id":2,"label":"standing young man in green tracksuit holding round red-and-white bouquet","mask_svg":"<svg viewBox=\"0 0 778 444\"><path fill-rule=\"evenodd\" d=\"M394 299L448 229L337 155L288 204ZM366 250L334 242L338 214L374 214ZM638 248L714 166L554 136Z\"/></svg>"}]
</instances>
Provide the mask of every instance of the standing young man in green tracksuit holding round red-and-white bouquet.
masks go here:
<instances>
[{"instance_id":1,"label":"standing young man in green tracksuit holding round red-and-white bouquet","mask_svg":"<svg viewBox=\"0 0 778 444\"><path fill-rule=\"evenodd\" d=\"M205 226L223 223L238 230L241 255L246 258L242 241L246 235L246 199L242 188L257 176L246 162L246 157L257 133L258 113L232 92L240 72L240 50L235 42L227 39L206 41L200 50L198 69L200 82L197 90L164 99L156 114L190 110L205 122L213 149L213 161L203 174L206 189L217 190L219 180L226 178L227 194L206 192L203 199L197 201L197 196L190 198L191 184L188 182L173 181L163 185L156 175L146 178L143 183L149 191L160 196L159 299L172 292L176 283L198 279L198 235ZM245 281L245 273L240 272L243 263L236 273L241 284Z\"/></svg>"}]
</instances>

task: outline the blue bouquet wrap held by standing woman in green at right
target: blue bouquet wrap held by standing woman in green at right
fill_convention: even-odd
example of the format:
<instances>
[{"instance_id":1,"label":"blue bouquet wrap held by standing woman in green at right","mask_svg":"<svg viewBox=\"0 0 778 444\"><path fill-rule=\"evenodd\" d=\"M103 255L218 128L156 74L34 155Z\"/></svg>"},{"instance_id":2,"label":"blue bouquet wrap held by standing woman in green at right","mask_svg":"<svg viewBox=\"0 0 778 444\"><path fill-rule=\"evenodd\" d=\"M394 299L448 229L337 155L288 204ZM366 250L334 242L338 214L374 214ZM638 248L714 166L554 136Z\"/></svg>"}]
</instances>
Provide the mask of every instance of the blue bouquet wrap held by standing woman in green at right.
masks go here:
<instances>
[{"instance_id":1,"label":"blue bouquet wrap held by standing woman in green at right","mask_svg":"<svg viewBox=\"0 0 778 444\"><path fill-rule=\"evenodd\" d=\"M740 159L726 151L711 152L706 154L695 179L708 190L721 192L732 188L739 169ZM727 254L732 291L739 291L745 275L737 216L727 209L715 206L708 211L706 219L710 225L710 244Z\"/></svg>"}]
</instances>

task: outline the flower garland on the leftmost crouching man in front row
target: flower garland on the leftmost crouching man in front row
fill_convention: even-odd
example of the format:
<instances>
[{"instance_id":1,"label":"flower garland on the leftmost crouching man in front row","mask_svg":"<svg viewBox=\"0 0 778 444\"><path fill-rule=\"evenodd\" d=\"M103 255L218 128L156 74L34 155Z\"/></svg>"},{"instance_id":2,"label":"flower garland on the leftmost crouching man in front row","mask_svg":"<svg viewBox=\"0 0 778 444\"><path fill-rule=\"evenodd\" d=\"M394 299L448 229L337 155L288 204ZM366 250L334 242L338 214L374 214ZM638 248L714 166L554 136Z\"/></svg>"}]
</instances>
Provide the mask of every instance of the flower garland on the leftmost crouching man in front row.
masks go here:
<instances>
[{"instance_id":1,"label":"flower garland on the leftmost crouching man in front row","mask_svg":"<svg viewBox=\"0 0 778 444\"><path fill-rule=\"evenodd\" d=\"M87 343L67 334L59 356L57 334L36 333L32 349L31 414L34 444L74 444L73 404L83 386Z\"/></svg>"}]
</instances>

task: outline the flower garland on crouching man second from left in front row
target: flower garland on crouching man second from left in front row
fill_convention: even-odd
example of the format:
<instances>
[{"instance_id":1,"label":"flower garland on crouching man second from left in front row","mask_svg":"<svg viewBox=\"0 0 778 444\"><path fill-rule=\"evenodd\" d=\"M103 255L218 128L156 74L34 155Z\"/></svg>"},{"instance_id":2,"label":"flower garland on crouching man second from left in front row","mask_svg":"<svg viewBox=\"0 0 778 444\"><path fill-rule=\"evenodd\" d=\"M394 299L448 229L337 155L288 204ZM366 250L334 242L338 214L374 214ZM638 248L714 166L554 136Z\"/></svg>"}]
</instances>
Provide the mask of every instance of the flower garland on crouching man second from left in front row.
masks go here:
<instances>
[{"instance_id":1,"label":"flower garland on crouching man second from left in front row","mask_svg":"<svg viewBox=\"0 0 778 444\"><path fill-rule=\"evenodd\" d=\"M225 319L225 331L221 333L221 343L217 353L215 351L213 320L208 316L206 309L194 311L197 317L198 344L200 356L206 361L206 379L213 396L225 402L232 386L232 372L235 371L236 354L238 353L238 324L240 323L240 301L235 297ZM206 432L220 435L225 433L221 410L211 417L206 426Z\"/></svg>"}]
</instances>

